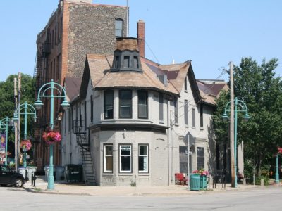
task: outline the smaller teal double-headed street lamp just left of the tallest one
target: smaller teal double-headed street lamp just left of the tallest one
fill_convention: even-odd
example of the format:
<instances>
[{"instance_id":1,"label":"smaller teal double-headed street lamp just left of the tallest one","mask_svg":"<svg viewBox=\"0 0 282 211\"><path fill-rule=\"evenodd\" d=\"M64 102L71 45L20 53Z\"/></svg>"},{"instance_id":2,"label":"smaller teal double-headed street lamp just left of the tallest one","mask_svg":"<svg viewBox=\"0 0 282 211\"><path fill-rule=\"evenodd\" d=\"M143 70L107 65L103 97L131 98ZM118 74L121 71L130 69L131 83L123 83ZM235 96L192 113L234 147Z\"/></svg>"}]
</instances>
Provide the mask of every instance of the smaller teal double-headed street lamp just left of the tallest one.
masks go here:
<instances>
[{"instance_id":1,"label":"smaller teal double-headed street lamp just left of the tallest one","mask_svg":"<svg viewBox=\"0 0 282 211\"><path fill-rule=\"evenodd\" d=\"M23 112L22 112L23 110ZM25 115L25 132L23 134L23 139L27 139L27 115L33 115L33 119L36 122L37 116L36 116L36 110L35 108L28 104L27 102L18 105L18 108L16 109L14 115L13 115L13 120L18 121L18 115ZM27 167L26 163L26 149L23 148L23 167Z\"/></svg>"}]
</instances>

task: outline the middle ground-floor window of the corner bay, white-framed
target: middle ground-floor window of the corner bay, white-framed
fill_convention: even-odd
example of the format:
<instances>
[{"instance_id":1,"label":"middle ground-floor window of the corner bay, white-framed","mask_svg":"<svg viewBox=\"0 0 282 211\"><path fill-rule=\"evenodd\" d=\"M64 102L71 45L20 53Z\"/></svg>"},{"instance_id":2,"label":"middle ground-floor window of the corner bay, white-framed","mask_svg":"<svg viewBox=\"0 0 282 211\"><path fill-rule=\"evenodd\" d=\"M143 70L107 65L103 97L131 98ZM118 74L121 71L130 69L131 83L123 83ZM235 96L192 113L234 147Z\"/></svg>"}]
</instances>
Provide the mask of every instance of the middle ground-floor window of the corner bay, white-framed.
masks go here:
<instances>
[{"instance_id":1,"label":"middle ground-floor window of the corner bay, white-framed","mask_svg":"<svg viewBox=\"0 0 282 211\"><path fill-rule=\"evenodd\" d=\"M131 172L131 145L119 146L119 171L130 173Z\"/></svg>"}]
</instances>

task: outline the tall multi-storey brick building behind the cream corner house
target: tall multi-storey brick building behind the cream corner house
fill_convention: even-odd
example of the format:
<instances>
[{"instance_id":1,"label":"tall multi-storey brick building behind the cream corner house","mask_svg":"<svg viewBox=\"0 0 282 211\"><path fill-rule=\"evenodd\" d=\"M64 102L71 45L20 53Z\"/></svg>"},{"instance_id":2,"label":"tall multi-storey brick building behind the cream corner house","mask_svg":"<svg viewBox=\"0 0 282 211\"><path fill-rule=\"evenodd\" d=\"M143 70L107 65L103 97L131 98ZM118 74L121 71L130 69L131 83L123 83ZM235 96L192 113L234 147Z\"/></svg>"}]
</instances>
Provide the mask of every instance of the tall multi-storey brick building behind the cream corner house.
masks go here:
<instances>
[{"instance_id":1,"label":"tall multi-storey brick building behind the cream corner house","mask_svg":"<svg viewBox=\"0 0 282 211\"><path fill-rule=\"evenodd\" d=\"M37 35L35 68L36 96L42 84L63 83L66 77L81 77L87 53L111 54L116 37L127 34L127 8L92 4L92 0L60 0L47 25ZM49 98L42 98L35 125L35 162L42 169L49 163L49 152L42 141L42 132L49 124ZM59 101L55 101L54 120L60 127ZM60 147L54 148L54 165L60 164Z\"/></svg>"}]
</instances>

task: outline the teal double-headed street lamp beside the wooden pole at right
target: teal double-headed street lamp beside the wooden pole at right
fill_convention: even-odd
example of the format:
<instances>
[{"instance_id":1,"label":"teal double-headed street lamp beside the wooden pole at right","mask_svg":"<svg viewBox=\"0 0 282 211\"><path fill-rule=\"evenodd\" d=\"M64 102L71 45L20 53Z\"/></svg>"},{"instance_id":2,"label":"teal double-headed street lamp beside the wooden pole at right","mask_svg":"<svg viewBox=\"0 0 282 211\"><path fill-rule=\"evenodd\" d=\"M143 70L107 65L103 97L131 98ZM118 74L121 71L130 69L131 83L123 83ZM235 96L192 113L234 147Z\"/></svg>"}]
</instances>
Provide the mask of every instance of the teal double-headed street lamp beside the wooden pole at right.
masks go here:
<instances>
[{"instance_id":1,"label":"teal double-headed street lamp beside the wooden pole at right","mask_svg":"<svg viewBox=\"0 0 282 211\"><path fill-rule=\"evenodd\" d=\"M243 116L243 120L246 122L250 120L250 116L247 114L247 106L243 101L238 100L238 98L234 99L234 173L235 173L235 188L237 187L237 113L238 112L245 112L245 115ZM238 109L239 106L239 109ZM222 115L223 121L228 120L227 112L230 112L230 102L228 102L225 106L224 113Z\"/></svg>"}]
</instances>

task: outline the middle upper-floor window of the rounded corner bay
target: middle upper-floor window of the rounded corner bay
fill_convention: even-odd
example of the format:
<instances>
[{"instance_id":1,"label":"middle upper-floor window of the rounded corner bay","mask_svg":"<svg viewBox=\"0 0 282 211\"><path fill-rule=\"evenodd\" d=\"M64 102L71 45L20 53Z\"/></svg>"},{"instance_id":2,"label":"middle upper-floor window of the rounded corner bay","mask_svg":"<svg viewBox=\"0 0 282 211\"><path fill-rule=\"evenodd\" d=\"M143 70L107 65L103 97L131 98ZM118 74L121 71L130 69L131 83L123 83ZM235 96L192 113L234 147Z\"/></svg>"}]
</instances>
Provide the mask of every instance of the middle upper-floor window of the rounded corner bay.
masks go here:
<instances>
[{"instance_id":1,"label":"middle upper-floor window of the rounded corner bay","mask_svg":"<svg viewBox=\"0 0 282 211\"><path fill-rule=\"evenodd\" d=\"M132 117L132 93L131 90L119 91L119 117Z\"/></svg>"}]
</instances>

